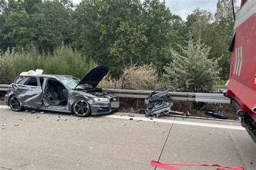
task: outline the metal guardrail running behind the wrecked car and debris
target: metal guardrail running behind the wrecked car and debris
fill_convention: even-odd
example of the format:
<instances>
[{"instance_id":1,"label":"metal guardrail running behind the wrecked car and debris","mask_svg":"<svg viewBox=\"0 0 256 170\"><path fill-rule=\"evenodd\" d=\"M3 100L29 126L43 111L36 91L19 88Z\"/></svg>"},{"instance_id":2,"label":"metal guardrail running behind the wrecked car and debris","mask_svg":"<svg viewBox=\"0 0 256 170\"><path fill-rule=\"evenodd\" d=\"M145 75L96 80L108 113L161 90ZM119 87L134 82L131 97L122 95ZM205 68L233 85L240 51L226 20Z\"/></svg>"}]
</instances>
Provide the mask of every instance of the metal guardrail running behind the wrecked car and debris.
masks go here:
<instances>
[{"instance_id":1,"label":"metal guardrail running behind the wrecked car and debris","mask_svg":"<svg viewBox=\"0 0 256 170\"><path fill-rule=\"evenodd\" d=\"M6 91L8 84L0 84L0 91ZM118 97L127 98L146 98L152 91L150 90L124 90L124 89L103 89L109 91ZM211 102L211 103L230 103L230 99L223 94L211 93L187 93L187 92L169 92L174 101L191 102Z\"/></svg>"}]
</instances>

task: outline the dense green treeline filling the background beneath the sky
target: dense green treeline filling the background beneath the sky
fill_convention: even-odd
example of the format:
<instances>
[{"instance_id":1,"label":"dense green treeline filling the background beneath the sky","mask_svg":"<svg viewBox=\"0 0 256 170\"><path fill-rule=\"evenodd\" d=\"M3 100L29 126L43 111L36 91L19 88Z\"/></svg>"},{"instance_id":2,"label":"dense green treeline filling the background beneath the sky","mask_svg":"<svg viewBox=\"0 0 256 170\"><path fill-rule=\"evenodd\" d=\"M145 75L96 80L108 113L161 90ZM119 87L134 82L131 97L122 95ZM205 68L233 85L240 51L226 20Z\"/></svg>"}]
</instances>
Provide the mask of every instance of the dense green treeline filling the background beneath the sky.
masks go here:
<instances>
[{"instance_id":1,"label":"dense green treeline filling the background beneath the sky","mask_svg":"<svg viewBox=\"0 0 256 170\"><path fill-rule=\"evenodd\" d=\"M84 0L76 6L69 0L0 1L0 51L36 48L52 54L71 46L83 58L109 66L113 77L134 63L153 65L161 77L166 63L176 62L174 52L184 55L191 33L194 41L211 47L207 58L218 61L219 76L226 80L233 24L227 0L217 1L215 13L197 8L186 20L161 0Z\"/></svg>"}]
</instances>

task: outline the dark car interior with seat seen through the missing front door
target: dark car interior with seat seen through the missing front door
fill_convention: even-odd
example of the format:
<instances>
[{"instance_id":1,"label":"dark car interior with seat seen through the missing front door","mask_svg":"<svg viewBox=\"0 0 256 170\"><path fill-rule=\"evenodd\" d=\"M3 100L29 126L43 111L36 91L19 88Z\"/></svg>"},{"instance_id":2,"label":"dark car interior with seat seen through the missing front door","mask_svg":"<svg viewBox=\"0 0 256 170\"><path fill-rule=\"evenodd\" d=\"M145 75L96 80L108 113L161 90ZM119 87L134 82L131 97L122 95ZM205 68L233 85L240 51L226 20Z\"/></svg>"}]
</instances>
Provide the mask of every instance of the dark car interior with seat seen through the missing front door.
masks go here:
<instances>
[{"instance_id":1,"label":"dark car interior with seat seen through the missing front door","mask_svg":"<svg viewBox=\"0 0 256 170\"><path fill-rule=\"evenodd\" d=\"M66 105L68 99L64 96L66 88L56 80L48 80L46 84L46 100L52 105Z\"/></svg>"}]
</instances>

